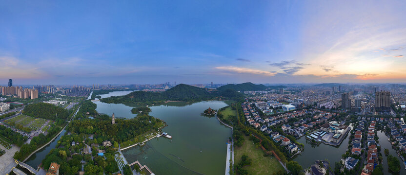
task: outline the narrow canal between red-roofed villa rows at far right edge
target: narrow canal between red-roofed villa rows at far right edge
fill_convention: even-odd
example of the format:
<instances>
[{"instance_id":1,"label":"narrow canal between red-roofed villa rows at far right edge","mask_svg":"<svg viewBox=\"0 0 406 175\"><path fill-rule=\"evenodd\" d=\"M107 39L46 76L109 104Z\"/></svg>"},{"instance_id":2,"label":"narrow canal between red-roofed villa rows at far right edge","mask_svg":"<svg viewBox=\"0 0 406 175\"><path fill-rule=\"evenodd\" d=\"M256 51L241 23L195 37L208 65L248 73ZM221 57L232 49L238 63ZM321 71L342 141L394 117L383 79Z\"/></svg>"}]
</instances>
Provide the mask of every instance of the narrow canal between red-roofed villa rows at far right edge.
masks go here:
<instances>
[{"instance_id":1,"label":"narrow canal between red-roofed villa rows at far right edge","mask_svg":"<svg viewBox=\"0 0 406 175\"><path fill-rule=\"evenodd\" d=\"M379 137L379 145L381 145L381 153L382 153L382 157L384 159L384 174L385 175L390 175L391 173L389 173L389 169L388 169L388 164L387 164L387 157L385 156L384 150L385 148L389 150L389 154L398 158L399 162L400 162L400 175L406 175L406 170L405 170L405 165L403 164L403 160L398 156L398 154L396 153L396 150L392 148L390 142L387 140L387 136L385 135L385 133L383 131L378 131L378 137Z\"/></svg>"}]
</instances>

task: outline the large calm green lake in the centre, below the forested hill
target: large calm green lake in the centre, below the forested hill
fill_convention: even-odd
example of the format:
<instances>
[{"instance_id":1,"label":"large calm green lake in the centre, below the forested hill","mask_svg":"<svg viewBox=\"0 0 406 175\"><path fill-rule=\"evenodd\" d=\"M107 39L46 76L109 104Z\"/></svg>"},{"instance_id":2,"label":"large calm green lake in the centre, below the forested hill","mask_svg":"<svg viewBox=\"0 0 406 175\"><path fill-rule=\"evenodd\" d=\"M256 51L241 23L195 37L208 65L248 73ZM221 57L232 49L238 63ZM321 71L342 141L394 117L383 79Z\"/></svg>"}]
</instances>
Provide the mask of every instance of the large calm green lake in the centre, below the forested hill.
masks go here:
<instances>
[{"instance_id":1,"label":"large calm green lake in the centre, below the forested hill","mask_svg":"<svg viewBox=\"0 0 406 175\"><path fill-rule=\"evenodd\" d=\"M183 106L151 106L150 115L168 124L162 130L172 136L172 142L161 137L122 153L129 163L138 160L157 175L224 174L226 141L231 137L231 129L215 117L200 114L208 107L219 109L226 105L210 101Z\"/></svg>"}]
</instances>

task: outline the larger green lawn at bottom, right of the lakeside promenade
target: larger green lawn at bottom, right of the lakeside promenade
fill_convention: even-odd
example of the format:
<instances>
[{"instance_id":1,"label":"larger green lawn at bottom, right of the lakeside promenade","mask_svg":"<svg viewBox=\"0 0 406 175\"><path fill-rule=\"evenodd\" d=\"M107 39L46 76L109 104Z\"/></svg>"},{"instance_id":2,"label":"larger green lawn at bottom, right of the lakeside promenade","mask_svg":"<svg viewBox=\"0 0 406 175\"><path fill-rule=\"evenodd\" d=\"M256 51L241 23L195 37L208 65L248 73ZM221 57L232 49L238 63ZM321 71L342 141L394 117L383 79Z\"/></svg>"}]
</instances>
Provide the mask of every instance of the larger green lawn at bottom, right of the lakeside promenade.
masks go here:
<instances>
[{"instance_id":1,"label":"larger green lawn at bottom, right of the lakeside promenade","mask_svg":"<svg viewBox=\"0 0 406 175\"><path fill-rule=\"evenodd\" d=\"M255 147L254 142L247 136L244 138L243 146L234 149L235 164L240 163L241 157L245 154L252 158L252 165L244 167L250 175L276 175L280 171L284 172L284 168L275 157L264 157L264 151L261 148Z\"/></svg>"}]
</instances>

